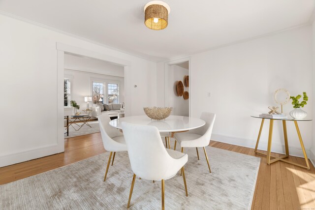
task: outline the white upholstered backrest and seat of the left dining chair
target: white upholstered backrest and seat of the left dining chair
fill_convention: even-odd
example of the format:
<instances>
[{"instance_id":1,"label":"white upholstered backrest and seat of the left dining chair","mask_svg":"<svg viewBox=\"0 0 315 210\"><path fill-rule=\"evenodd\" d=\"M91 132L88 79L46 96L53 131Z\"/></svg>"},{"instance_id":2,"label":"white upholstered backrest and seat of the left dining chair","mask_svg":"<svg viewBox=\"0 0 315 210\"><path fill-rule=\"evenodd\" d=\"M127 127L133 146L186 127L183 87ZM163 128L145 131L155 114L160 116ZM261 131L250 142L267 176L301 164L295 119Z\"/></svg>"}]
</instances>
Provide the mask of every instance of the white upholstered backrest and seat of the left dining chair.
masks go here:
<instances>
[{"instance_id":1,"label":"white upholstered backrest and seat of the left dining chair","mask_svg":"<svg viewBox=\"0 0 315 210\"><path fill-rule=\"evenodd\" d=\"M125 144L121 144L113 140L115 137L123 136L123 133L112 127L110 124L110 117L108 114L104 113L98 116L98 124L100 133L103 140L103 145L107 151L124 151L123 148L126 148ZM126 149L125 149L126 150Z\"/></svg>"}]
</instances>

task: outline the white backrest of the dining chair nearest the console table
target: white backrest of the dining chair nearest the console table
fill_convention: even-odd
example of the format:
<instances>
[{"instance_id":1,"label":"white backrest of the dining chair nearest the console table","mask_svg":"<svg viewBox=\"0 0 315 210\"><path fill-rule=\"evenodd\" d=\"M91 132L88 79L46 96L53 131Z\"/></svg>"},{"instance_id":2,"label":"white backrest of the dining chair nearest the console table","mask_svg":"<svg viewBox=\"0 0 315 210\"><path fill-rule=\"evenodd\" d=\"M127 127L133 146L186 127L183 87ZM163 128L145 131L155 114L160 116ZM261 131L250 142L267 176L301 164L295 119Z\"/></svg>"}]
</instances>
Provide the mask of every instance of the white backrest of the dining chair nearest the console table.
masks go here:
<instances>
[{"instance_id":1,"label":"white backrest of the dining chair nearest the console table","mask_svg":"<svg viewBox=\"0 0 315 210\"><path fill-rule=\"evenodd\" d=\"M205 120L206 124L202 127L190 130L189 133L195 133L202 135L205 139L209 140L208 144L210 143L210 138L212 134L213 125L215 123L216 114L210 112L202 112L200 116L201 120Z\"/></svg>"}]
</instances>

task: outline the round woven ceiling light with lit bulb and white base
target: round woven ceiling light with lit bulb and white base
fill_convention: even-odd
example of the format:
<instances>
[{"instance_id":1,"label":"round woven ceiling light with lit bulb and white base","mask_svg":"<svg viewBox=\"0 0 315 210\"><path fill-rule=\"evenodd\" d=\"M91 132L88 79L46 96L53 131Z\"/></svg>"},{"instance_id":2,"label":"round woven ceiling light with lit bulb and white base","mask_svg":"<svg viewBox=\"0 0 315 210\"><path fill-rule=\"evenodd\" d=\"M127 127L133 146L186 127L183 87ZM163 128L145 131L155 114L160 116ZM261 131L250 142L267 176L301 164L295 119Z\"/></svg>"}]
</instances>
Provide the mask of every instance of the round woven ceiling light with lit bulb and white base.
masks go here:
<instances>
[{"instance_id":1,"label":"round woven ceiling light with lit bulb and white base","mask_svg":"<svg viewBox=\"0 0 315 210\"><path fill-rule=\"evenodd\" d=\"M145 6L144 24L152 30L162 30L167 27L169 6L163 1L151 1Z\"/></svg>"}]
</instances>

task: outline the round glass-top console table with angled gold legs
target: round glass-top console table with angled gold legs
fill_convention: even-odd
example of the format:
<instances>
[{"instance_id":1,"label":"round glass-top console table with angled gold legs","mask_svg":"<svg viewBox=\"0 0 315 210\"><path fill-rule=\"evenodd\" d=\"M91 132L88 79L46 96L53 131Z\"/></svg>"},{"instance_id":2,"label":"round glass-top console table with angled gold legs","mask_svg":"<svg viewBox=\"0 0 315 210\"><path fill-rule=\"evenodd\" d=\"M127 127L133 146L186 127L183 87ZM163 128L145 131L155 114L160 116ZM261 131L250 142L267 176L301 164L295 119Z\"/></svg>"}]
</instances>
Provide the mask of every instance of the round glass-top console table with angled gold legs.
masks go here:
<instances>
[{"instance_id":1,"label":"round glass-top console table with angled gold legs","mask_svg":"<svg viewBox=\"0 0 315 210\"><path fill-rule=\"evenodd\" d=\"M260 118L260 119L262 119L254 151L255 151L255 153L266 155L267 156L267 164L268 165L270 165L271 163L274 163L276 161L283 161L283 162L290 163L290 164L293 164L293 165L296 165L296 166L299 166L299 167L306 168L306 169L310 170L310 164L309 164L309 161L308 161L308 158L307 158L307 154L306 154L306 151L305 151L305 148L304 148L302 136L301 136L300 129L299 129L299 126L298 126L297 122L298 121L312 121L311 119L301 119L301 120L297 120L297 119L293 119L293 118L277 119L277 118L267 118L267 117L260 117L260 116L254 116L254 115L251 116L251 117L252 118ZM263 127L265 119L270 120L267 154L264 154L264 153L261 153L261 152L257 151L257 147L258 147L259 139L260 139L260 134L261 134L262 127ZM272 132L273 132L274 120L282 120L283 128L284 128L285 155L280 156L280 157L271 156L271 142L272 142ZM306 166L298 164L298 163L294 163L294 162L291 162L291 161L288 161L288 160L284 159L284 158L287 158L290 155L289 154L289 146L288 146L288 142L287 142L286 121L293 121L294 124L295 124L296 132L297 132L297 135L299 137L301 148L302 148L302 151L303 151L303 154L304 154ZM273 157L274 159L271 159L271 157Z\"/></svg>"}]
</instances>

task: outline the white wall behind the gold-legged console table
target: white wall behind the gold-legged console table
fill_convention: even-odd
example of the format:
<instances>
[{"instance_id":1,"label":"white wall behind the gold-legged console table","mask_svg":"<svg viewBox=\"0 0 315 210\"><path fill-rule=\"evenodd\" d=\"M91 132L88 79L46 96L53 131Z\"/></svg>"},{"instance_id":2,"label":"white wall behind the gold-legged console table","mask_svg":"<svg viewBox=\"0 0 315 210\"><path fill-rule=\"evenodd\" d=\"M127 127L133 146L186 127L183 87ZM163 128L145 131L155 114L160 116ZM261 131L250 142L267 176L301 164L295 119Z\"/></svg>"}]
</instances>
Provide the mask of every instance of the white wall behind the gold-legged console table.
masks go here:
<instances>
[{"instance_id":1,"label":"white wall behind the gold-legged console table","mask_svg":"<svg viewBox=\"0 0 315 210\"><path fill-rule=\"evenodd\" d=\"M247 42L190 56L189 97L191 116L202 111L217 114L213 140L254 147L261 120L251 118L277 106L273 93L279 88L291 95L306 91L312 96L312 28L288 30ZM163 63L158 63L163 72ZM158 77L158 83L163 76ZM207 97L207 92L211 97ZM163 93L158 93L158 101ZM288 114L291 104L284 106ZM303 108L312 117L312 100ZM259 149L267 149L266 120ZM312 145L312 122L299 122L305 147ZM287 122L292 155L303 155L293 122ZM284 152L282 123L274 125L272 150Z\"/></svg>"}]
</instances>

